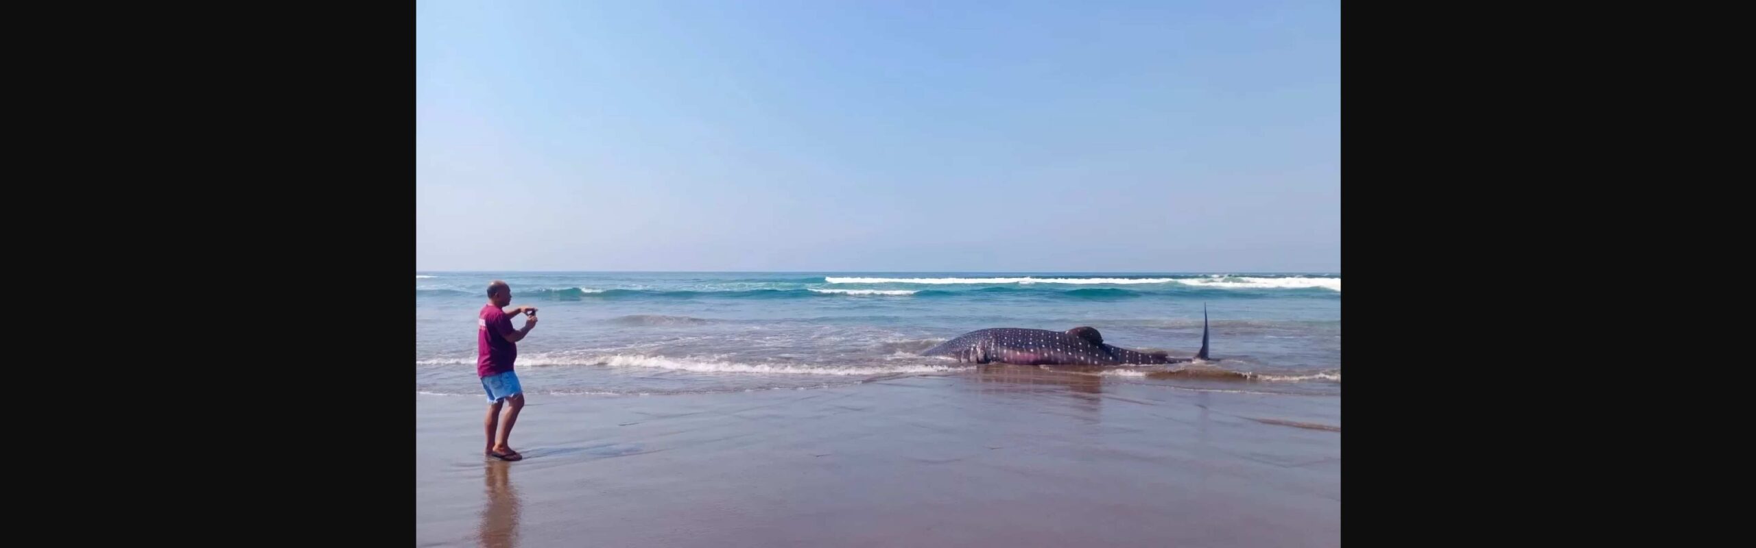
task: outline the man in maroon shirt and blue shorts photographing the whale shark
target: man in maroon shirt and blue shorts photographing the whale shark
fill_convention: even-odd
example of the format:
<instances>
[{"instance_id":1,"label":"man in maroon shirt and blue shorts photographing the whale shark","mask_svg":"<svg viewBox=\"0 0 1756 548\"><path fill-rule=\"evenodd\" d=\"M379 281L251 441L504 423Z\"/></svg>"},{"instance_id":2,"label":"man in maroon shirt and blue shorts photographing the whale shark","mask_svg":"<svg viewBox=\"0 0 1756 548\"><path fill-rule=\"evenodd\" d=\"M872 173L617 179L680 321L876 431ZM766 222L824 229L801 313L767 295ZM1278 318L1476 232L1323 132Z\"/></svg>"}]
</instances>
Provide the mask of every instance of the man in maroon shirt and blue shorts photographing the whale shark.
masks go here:
<instances>
[{"instance_id":1,"label":"man in maroon shirt and blue shorts photographing the whale shark","mask_svg":"<svg viewBox=\"0 0 1756 548\"><path fill-rule=\"evenodd\" d=\"M523 455L506 444L506 439L513 436L513 423L518 422L518 411L525 407L525 390L518 386L513 358L518 358L518 341L523 341L525 334L537 327L537 309L520 306L511 313L502 311L511 302L511 286L499 279L488 283L488 304L476 316L476 376L481 378L481 388L488 392L488 420L485 423L488 457L523 460ZM515 330L511 316L520 313L527 314L525 328ZM500 404L506 404L504 420L497 420L500 418ZM493 437L495 430L500 437Z\"/></svg>"}]
</instances>

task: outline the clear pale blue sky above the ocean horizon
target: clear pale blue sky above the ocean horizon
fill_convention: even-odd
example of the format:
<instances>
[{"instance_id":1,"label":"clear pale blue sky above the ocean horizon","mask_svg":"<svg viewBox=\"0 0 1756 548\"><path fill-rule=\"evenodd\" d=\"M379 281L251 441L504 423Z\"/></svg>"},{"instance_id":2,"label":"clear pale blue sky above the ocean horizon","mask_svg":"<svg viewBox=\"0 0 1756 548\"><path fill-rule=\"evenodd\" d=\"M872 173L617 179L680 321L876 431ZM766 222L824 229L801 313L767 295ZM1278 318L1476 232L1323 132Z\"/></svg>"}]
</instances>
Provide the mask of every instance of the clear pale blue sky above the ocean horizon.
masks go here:
<instances>
[{"instance_id":1,"label":"clear pale blue sky above the ocean horizon","mask_svg":"<svg viewBox=\"0 0 1756 548\"><path fill-rule=\"evenodd\" d=\"M1342 269L1335 0L416 9L416 270Z\"/></svg>"}]
</instances>

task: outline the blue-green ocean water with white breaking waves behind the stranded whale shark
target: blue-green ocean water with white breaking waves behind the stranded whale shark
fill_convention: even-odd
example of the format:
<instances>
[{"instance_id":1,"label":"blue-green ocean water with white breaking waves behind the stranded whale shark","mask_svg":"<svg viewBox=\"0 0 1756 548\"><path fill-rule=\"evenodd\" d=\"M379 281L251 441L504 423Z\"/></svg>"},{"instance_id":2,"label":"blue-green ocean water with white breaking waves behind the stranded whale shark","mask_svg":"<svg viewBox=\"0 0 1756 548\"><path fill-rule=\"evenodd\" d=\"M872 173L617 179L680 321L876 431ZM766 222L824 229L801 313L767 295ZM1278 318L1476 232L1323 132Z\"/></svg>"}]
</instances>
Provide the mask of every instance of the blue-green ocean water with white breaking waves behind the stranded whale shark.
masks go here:
<instances>
[{"instance_id":1,"label":"blue-green ocean water with white breaking waves behind the stranded whale shark","mask_svg":"<svg viewBox=\"0 0 1756 548\"><path fill-rule=\"evenodd\" d=\"M511 285L515 306L539 307L516 369L525 392L544 397L813 390L1027 367L918 355L987 327L1087 325L1115 346L1189 357L1203 306L1213 362L1041 369L1173 390L1342 393L1340 274L416 272L418 393L481 397L476 313L493 279Z\"/></svg>"}]
</instances>

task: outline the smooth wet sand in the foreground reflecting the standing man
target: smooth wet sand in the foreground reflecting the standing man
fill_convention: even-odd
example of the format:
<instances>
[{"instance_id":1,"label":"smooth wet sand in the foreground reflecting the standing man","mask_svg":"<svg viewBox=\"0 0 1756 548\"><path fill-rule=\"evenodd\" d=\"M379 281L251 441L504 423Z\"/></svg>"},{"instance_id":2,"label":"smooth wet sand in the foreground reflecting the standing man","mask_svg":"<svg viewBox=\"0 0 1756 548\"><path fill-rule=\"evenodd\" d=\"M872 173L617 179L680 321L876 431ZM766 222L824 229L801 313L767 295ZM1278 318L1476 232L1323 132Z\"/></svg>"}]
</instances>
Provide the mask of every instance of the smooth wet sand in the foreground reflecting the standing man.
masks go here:
<instances>
[{"instance_id":1,"label":"smooth wet sand in the foreground reflecting the standing man","mask_svg":"<svg viewBox=\"0 0 1756 548\"><path fill-rule=\"evenodd\" d=\"M511 464L481 455L485 407L414 399L416 546L1342 543L1340 397L1011 365L825 390L532 395Z\"/></svg>"}]
</instances>

